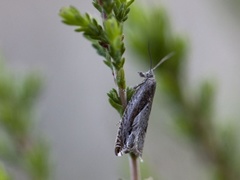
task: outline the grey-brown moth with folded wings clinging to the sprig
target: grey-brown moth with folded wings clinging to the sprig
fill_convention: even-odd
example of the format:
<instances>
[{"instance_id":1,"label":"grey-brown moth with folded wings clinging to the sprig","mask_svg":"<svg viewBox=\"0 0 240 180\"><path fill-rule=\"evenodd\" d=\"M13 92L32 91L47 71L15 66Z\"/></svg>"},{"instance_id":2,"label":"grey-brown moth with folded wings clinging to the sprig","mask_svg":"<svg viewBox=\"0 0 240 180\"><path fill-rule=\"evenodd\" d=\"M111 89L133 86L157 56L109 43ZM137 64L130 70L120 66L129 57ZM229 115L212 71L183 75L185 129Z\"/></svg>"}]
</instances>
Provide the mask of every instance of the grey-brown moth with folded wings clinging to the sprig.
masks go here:
<instances>
[{"instance_id":1,"label":"grey-brown moth with folded wings clinging to the sprig","mask_svg":"<svg viewBox=\"0 0 240 180\"><path fill-rule=\"evenodd\" d=\"M144 80L134 87L135 93L128 102L120 120L115 142L116 156L133 153L137 157L142 157L144 139L156 89L153 71L172 55L173 53L170 53L165 56L154 68L150 67L149 71L139 72L140 77Z\"/></svg>"}]
</instances>

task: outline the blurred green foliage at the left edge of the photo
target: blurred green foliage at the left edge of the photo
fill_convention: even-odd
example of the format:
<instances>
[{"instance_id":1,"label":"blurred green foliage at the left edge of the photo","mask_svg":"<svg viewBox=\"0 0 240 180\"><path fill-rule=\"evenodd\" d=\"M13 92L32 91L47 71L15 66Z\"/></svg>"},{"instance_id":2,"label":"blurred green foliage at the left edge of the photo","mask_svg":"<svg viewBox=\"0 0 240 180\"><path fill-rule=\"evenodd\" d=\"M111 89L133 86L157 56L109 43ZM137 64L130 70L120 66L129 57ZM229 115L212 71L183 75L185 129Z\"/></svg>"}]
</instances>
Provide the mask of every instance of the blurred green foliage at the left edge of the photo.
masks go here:
<instances>
[{"instance_id":1,"label":"blurred green foliage at the left edge of the photo","mask_svg":"<svg viewBox=\"0 0 240 180\"><path fill-rule=\"evenodd\" d=\"M49 178L49 151L36 137L34 106L41 91L41 79L35 73L18 77L0 63L0 158L22 169L30 179ZM4 175L0 169L0 177ZM7 179L7 178L5 178Z\"/></svg>"}]
</instances>

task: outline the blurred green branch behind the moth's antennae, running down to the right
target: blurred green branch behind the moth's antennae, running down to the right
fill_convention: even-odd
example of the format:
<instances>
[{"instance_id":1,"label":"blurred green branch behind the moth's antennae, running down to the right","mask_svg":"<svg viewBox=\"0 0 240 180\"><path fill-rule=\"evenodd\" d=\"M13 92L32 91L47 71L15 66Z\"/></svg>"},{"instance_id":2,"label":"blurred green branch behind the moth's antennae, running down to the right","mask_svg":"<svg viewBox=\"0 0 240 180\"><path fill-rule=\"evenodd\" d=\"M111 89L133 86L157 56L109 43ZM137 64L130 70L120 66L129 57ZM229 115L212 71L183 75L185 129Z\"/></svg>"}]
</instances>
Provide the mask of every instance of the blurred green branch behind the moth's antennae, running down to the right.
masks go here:
<instances>
[{"instance_id":1,"label":"blurred green branch behind the moth's antennae, running down to the right","mask_svg":"<svg viewBox=\"0 0 240 180\"><path fill-rule=\"evenodd\" d=\"M166 11L161 7L146 8L134 4L125 28L127 43L138 57L137 63L149 64L147 45L153 57L153 64L170 52L176 55L161 68L156 76L163 103L171 114L175 126L184 137L197 146L200 156L214 167L213 179L240 179L239 139L236 130L229 127L219 128L214 122L213 107L215 89L205 81L199 85L198 92L188 89L186 74L186 41L172 32ZM163 101L164 100L164 101ZM206 163L209 164L209 163Z\"/></svg>"}]
</instances>

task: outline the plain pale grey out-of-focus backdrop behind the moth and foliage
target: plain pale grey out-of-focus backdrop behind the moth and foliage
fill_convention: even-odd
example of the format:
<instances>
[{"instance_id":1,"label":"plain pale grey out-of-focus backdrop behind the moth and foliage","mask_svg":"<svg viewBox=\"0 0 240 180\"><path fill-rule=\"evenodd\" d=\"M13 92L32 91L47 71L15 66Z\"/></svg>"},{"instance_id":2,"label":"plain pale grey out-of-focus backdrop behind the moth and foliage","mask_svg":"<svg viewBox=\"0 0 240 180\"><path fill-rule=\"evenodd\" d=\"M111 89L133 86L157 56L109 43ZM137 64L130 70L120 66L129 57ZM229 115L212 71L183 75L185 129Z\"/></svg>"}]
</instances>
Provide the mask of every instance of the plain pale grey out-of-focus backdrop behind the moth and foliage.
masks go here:
<instances>
[{"instance_id":1,"label":"plain pale grey out-of-focus backdrop behind the moth and foliage","mask_svg":"<svg viewBox=\"0 0 240 180\"><path fill-rule=\"evenodd\" d=\"M238 12L219 0L148 2L165 6L175 32L189 39L189 88L196 90L203 79L216 81L217 123L234 121L240 115ZM121 169L128 164L127 156L113 153L119 116L106 96L113 79L90 43L60 22L59 9L70 4L98 16L91 1L0 0L0 50L12 70L36 70L44 77L37 119L51 144L55 179L118 179L126 176ZM134 85L141 81L136 72L146 67L126 56L127 83ZM158 116L154 104L145 163L164 180L206 179L208 167L167 121L154 121Z\"/></svg>"}]
</instances>

